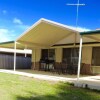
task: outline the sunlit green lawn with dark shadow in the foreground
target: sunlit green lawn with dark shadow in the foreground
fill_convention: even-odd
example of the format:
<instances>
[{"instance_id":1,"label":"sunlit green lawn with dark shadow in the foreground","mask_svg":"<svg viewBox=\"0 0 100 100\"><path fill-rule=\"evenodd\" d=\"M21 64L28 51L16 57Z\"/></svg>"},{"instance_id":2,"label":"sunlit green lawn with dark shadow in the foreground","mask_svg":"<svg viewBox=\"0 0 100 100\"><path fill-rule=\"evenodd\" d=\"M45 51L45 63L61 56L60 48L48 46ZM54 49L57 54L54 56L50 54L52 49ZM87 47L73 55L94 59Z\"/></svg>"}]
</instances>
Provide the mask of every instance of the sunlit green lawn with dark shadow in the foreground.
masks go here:
<instances>
[{"instance_id":1,"label":"sunlit green lawn with dark shadow in the foreground","mask_svg":"<svg viewBox=\"0 0 100 100\"><path fill-rule=\"evenodd\" d=\"M0 100L100 100L100 93L63 82L0 73Z\"/></svg>"}]
</instances>

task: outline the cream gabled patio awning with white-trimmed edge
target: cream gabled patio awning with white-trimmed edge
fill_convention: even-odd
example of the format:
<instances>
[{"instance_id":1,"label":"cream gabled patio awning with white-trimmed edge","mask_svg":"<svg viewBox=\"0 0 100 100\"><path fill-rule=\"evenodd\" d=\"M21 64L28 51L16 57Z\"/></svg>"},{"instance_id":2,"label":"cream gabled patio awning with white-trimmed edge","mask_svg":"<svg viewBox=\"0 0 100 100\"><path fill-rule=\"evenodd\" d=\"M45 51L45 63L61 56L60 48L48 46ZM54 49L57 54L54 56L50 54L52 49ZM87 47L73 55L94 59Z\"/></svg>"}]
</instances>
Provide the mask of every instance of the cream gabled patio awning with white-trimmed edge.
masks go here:
<instances>
[{"instance_id":1,"label":"cream gabled patio awning with white-trimmed edge","mask_svg":"<svg viewBox=\"0 0 100 100\"><path fill-rule=\"evenodd\" d=\"M24 32L16 41L27 45L28 48L49 48L65 38L67 40L67 37L75 33L79 32L75 29L71 29L69 26L42 18Z\"/></svg>"}]
</instances>

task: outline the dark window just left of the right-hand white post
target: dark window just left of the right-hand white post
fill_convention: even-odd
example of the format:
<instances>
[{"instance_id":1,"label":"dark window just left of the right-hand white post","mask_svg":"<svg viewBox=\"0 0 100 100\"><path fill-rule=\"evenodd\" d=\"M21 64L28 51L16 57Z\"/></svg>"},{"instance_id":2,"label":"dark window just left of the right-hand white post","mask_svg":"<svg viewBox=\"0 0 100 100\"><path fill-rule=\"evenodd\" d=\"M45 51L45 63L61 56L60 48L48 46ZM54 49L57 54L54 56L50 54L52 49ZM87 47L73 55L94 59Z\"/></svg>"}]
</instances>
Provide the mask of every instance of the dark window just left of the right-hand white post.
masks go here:
<instances>
[{"instance_id":1,"label":"dark window just left of the right-hand white post","mask_svg":"<svg viewBox=\"0 0 100 100\"><path fill-rule=\"evenodd\" d=\"M78 54L79 49L78 48L64 48L63 49L63 61L67 64L78 64Z\"/></svg>"}]
</instances>

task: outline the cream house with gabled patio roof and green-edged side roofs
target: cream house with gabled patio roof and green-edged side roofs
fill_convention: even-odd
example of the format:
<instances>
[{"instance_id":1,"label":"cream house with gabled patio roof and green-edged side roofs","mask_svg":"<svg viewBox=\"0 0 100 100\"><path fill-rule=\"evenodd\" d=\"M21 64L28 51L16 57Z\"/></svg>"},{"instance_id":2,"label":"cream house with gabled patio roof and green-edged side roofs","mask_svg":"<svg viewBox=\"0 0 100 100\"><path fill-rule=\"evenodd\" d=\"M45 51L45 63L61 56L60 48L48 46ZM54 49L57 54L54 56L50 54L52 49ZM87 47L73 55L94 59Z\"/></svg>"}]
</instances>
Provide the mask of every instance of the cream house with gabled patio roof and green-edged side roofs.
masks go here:
<instances>
[{"instance_id":1,"label":"cream house with gabled patio roof and green-edged side roofs","mask_svg":"<svg viewBox=\"0 0 100 100\"><path fill-rule=\"evenodd\" d=\"M80 32L77 29L54 21L41 18L26 30L15 42L0 44L0 47L32 50L32 69L40 68L42 59L54 60L57 66L72 64L78 67L80 37L82 37L81 73L100 73L99 30ZM92 36L90 35L92 34ZM80 47L81 48L81 47ZM81 51L80 51L81 54ZM16 69L16 53L14 57Z\"/></svg>"}]
</instances>

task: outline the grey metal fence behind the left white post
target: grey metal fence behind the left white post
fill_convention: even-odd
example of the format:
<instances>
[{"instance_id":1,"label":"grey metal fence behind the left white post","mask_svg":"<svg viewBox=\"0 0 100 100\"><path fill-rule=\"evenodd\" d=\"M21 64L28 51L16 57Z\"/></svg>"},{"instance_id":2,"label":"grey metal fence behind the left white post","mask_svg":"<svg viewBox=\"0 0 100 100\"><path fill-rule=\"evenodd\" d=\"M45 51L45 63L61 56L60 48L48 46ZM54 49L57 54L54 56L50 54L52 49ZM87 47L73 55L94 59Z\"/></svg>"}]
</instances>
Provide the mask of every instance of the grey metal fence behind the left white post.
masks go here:
<instances>
[{"instance_id":1,"label":"grey metal fence behind the left white post","mask_svg":"<svg viewBox=\"0 0 100 100\"><path fill-rule=\"evenodd\" d=\"M14 54L0 53L0 69L13 69ZM16 56L16 69L31 69L31 56L22 54Z\"/></svg>"}]
</instances>

